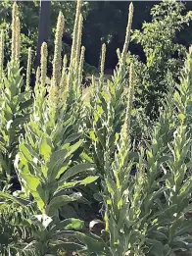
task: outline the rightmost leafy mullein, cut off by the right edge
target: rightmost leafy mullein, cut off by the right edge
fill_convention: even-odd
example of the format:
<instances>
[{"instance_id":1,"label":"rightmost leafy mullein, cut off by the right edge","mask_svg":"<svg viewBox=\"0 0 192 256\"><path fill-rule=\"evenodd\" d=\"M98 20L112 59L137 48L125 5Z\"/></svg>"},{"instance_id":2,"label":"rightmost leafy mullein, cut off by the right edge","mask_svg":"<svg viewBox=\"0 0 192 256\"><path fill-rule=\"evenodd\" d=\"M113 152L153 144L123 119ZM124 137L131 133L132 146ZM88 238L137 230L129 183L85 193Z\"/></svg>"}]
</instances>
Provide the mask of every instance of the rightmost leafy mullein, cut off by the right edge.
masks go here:
<instances>
[{"instance_id":1,"label":"rightmost leafy mullein, cut off by the right edge","mask_svg":"<svg viewBox=\"0 0 192 256\"><path fill-rule=\"evenodd\" d=\"M192 95L192 48L185 61L180 84L174 92L174 106L177 121L172 143L169 143L171 157L168 159L166 184L168 190L165 197L168 207L176 215L168 223L168 244L171 251L182 249L189 252L192 239L189 232L192 227L187 214L192 211L192 179L191 179L191 95ZM165 171L164 167L164 171ZM179 228L178 228L179 227ZM176 241L182 241L177 243ZM187 246L186 246L187 245ZM191 252L191 251L190 251Z\"/></svg>"}]
</instances>

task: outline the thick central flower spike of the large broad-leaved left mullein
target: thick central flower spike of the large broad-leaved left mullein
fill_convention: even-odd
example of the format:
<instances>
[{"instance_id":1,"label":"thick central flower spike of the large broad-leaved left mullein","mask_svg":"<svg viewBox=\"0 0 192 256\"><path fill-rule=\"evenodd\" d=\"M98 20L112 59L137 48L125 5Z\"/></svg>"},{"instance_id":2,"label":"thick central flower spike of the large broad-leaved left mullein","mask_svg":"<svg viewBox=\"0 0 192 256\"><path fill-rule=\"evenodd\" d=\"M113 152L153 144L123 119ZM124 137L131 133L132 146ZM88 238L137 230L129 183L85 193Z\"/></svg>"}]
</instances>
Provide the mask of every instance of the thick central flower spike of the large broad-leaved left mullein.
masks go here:
<instances>
[{"instance_id":1,"label":"thick central flower spike of the large broad-leaved left mullein","mask_svg":"<svg viewBox=\"0 0 192 256\"><path fill-rule=\"evenodd\" d=\"M53 77L52 82L56 85L60 84L61 79L61 64L62 64L62 36L64 32L64 16L62 12L60 12L56 27L55 34L55 51L54 51L54 59L53 59Z\"/></svg>"}]
</instances>

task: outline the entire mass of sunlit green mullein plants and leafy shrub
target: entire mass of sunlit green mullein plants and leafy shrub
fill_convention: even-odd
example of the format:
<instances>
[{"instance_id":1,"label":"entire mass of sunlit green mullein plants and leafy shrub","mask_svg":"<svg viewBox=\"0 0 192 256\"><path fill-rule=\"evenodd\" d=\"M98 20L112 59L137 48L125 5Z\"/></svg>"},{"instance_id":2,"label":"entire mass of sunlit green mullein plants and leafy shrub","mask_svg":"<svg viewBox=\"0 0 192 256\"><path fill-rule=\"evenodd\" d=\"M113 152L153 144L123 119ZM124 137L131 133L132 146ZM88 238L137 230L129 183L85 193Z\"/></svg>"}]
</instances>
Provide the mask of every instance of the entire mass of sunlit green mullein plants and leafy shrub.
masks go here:
<instances>
[{"instance_id":1,"label":"entire mass of sunlit green mullein plants and leafy shrub","mask_svg":"<svg viewBox=\"0 0 192 256\"><path fill-rule=\"evenodd\" d=\"M34 88L16 3L10 43L1 30L0 255L190 256L192 48L172 40L191 14L175 2L152 9L132 38L142 64L128 52L131 3L114 75L106 82L104 43L87 100L81 5L64 57L59 13L52 74L44 42Z\"/></svg>"}]
</instances>

